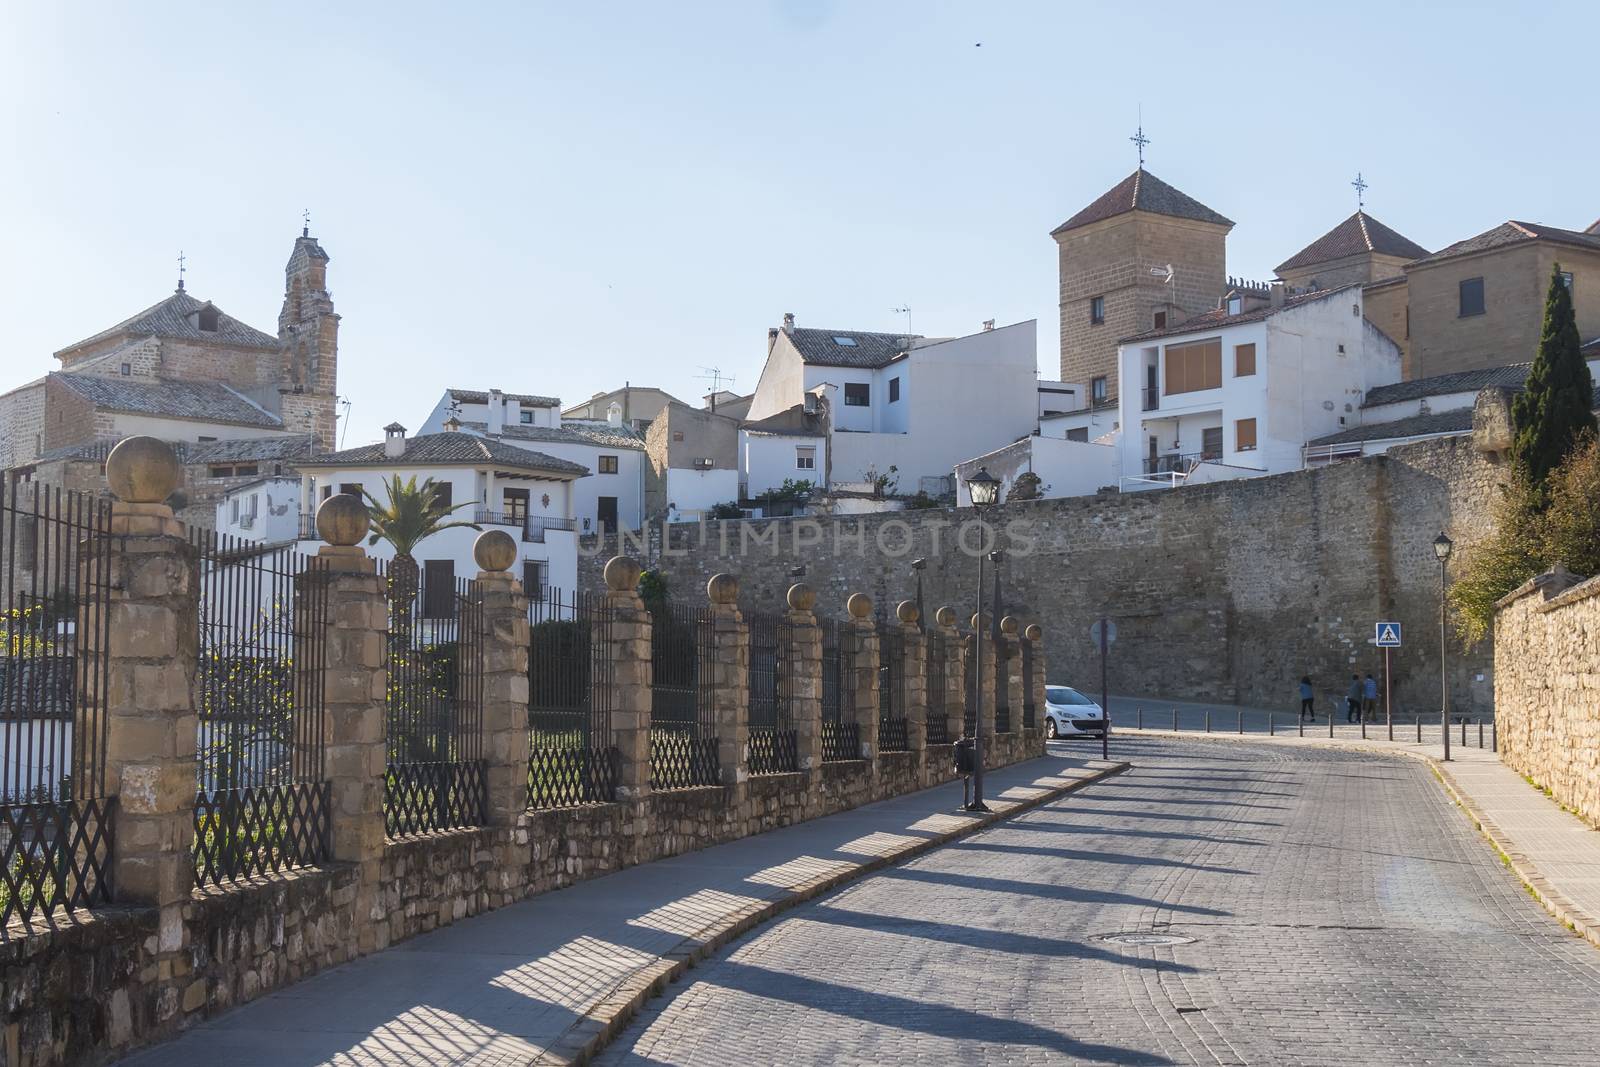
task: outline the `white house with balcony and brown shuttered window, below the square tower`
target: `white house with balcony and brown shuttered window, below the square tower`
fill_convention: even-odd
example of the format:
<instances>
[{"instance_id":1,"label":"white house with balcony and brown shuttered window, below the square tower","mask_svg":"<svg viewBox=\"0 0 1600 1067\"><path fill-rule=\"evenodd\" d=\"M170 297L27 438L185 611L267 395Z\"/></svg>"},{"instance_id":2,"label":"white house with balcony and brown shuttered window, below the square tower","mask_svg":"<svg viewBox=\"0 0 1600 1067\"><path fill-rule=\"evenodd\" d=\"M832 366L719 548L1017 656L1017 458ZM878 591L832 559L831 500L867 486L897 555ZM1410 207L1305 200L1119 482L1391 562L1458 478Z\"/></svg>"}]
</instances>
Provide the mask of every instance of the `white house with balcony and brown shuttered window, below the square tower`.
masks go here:
<instances>
[{"instance_id":1,"label":"white house with balcony and brown shuttered window, below the square tower","mask_svg":"<svg viewBox=\"0 0 1600 1067\"><path fill-rule=\"evenodd\" d=\"M1306 442L1354 426L1400 381L1400 349L1362 288L1234 294L1118 346L1123 490L1299 470Z\"/></svg>"}]
</instances>

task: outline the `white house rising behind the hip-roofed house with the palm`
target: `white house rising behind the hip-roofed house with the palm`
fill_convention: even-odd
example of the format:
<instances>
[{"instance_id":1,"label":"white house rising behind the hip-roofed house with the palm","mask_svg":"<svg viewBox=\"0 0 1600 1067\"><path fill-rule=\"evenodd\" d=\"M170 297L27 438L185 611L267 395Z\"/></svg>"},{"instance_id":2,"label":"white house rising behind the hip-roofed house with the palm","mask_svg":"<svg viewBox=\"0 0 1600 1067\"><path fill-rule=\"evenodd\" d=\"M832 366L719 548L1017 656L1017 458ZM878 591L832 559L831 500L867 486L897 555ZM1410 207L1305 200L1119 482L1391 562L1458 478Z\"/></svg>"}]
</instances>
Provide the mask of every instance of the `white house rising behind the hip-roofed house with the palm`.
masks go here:
<instances>
[{"instance_id":1,"label":"white house rising behind the hip-roofed house with the palm","mask_svg":"<svg viewBox=\"0 0 1600 1067\"><path fill-rule=\"evenodd\" d=\"M579 533L643 525L650 467L645 435L627 424L621 402L611 402L603 419L574 419L562 414L555 397L446 389L422 422L422 434L445 432L453 418L462 434L587 467L590 477L576 483L573 498Z\"/></svg>"}]
</instances>

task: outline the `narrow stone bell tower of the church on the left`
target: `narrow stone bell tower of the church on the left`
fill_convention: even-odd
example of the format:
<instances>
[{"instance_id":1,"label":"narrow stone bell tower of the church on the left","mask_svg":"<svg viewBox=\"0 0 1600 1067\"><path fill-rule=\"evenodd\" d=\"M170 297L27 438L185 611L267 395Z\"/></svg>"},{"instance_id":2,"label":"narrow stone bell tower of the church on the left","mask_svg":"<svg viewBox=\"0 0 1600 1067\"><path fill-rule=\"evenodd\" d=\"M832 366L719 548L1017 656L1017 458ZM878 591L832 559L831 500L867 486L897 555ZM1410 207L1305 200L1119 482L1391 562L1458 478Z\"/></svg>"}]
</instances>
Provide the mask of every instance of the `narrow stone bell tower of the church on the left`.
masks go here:
<instances>
[{"instance_id":1,"label":"narrow stone bell tower of the church on the left","mask_svg":"<svg viewBox=\"0 0 1600 1067\"><path fill-rule=\"evenodd\" d=\"M310 227L294 238L283 269L283 310L278 312L283 342L282 416L286 429L315 434L322 448L333 448L339 403L339 315L328 293L328 253Z\"/></svg>"}]
</instances>

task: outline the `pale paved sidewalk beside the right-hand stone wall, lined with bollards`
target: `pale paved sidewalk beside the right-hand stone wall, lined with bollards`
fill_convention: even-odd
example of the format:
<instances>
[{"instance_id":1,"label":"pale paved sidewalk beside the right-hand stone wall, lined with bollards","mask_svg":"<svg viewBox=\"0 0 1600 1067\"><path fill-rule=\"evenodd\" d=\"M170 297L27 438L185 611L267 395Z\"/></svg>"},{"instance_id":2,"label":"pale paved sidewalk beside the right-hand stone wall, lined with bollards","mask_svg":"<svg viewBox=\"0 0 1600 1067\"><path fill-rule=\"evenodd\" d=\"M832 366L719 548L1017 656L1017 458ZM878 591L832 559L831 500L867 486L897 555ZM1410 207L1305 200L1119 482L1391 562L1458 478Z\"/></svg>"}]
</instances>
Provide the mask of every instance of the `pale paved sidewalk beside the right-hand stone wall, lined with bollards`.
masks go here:
<instances>
[{"instance_id":1,"label":"pale paved sidewalk beside the right-hand stone wall, lined with bollards","mask_svg":"<svg viewBox=\"0 0 1600 1067\"><path fill-rule=\"evenodd\" d=\"M1134 707L1146 709L1146 729L1117 725L1114 731L1126 729L1134 734L1166 737L1174 736L1173 731L1170 728L1160 729L1158 723L1171 721L1168 709L1178 709L1181 728L1178 736L1194 736L1197 728L1203 728L1203 709L1206 707L1205 704L1179 701L1138 701L1115 696L1110 705L1114 723L1133 721ZM1266 741L1286 745L1331 745L1426 760L1438 773L1451 798L1499 849L1506 864L1517 872L1534 899L1576 934L1600 947L1600 830L1530 785L1517 771L1501 763L1491 749L1480 749L1477 726L1467 726L1466 745L1461 744L1461 728L1454 728L1450 745L1451 761L1443 763L1443 744L1438 737L1437 721L1432 726L1424 725L1422 744L1416 742L1416 728L1411 723L1406 723L1403 729L1397 726L1392 742L1386 739L1382 723L1368 725L1365 741L1360 736L1360 726L1336 723L1334 737L1330 741L1326 718L1315 731L1307 728L1306 737L1299 737L1294 729L1294 715L1280 712L1277 715L1277 736L1264 737L1266 710L1243 709L1245 734L1238 734L1238 709L1232 705L1211 707L1211 737L1245 737L1253 742ZM1162 709L1160 717L1152 709ZM1152 728L1152 723L1157 726ZM1485 733L1485 744L1491 744L1491 734ZM1110 755L1117 758L1115 734Z\"/></svg>"}]
</instances>

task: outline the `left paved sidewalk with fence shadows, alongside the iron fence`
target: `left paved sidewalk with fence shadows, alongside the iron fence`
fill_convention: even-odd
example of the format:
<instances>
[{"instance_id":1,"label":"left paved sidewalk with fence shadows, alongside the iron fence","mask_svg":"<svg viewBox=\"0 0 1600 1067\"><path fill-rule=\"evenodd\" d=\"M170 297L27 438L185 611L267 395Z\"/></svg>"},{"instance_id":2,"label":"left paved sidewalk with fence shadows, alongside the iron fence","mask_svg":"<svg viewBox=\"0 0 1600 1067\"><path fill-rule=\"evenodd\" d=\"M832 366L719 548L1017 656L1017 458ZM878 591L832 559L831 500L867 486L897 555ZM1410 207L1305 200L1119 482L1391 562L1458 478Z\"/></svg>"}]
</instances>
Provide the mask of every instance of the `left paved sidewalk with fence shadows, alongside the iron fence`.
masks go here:
<instances>
[{"instance_id":1,"label":"left paved sidewalk with fence shadows, alongside the iron fence","mask_svg":"<svg viewBox=\"0 0 1600 1067\"><path fill-rule=\"evenodd\" d=\"M592 1054L694 961L819 893L1115 774L1050 755L960 782L630 867L406 941L211 1019L128 1065L443 1065Z\"/></svg>"}]
</instances>

